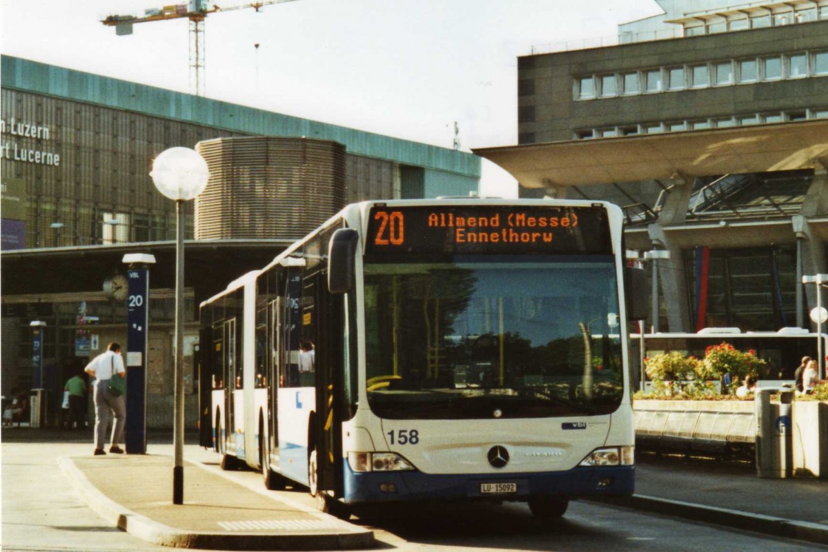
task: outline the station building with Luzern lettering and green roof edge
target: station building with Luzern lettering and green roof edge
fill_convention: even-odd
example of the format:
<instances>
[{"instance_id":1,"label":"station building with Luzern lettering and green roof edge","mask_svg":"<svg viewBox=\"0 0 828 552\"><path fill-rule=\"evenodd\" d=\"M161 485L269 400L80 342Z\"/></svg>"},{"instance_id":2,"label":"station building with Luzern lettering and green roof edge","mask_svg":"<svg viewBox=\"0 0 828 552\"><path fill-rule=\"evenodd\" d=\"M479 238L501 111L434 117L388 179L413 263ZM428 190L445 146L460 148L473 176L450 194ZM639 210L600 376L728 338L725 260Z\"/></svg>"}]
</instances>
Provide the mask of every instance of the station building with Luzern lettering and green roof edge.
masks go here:
<instances>
[{"instance_id":1,"label":"station building with Luzern lettering and green roof edge","mask_svg":"<svg viewBox=\"0 0 828 552\"><path fill-rule=\"evenodd\" d=\"M29 389L31 322L46 323L54 420L71 373L126 344L113 285L130 253L149 267L150 427L171 426L176 205L152 161L199 150L208 187L185 206L185 384L197 388L198 305L262 268L349 202L477 193L476 155L2 56L2 395ZM125 350L125 348L124 348ZM188 425L197 401L186 401Z\"/></svg>"}]
</instances>

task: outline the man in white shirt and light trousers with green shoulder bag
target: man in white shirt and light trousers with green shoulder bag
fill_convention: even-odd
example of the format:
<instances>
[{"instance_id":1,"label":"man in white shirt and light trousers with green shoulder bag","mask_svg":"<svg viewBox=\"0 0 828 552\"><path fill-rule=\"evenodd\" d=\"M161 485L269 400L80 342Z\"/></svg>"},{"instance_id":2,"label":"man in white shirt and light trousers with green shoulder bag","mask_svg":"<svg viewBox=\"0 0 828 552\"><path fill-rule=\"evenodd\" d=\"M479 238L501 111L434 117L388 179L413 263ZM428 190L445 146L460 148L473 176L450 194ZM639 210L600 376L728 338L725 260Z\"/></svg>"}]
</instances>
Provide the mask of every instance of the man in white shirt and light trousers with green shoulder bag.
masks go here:
<instances>
[{"instance_id":1,"label":"man in white shirt and light trousers with green shoulder bag","mask_svg":"<svg viewBox=\"0 0 828 552\"><path fill-rule=\"evenodd\" d=\"M123 454L118 443L123 441L123 428L126 424L127 405L124 398L127 383L127 369L123 366L121 345L110 343L106 352L96 356L86 365L84 371L95 378L95 452L106 454L103 443L106 441L106 426L109 422L109 411L112 410L115 420L112 426L112 443L109 452Z\"/></svg>"}]
</instances>

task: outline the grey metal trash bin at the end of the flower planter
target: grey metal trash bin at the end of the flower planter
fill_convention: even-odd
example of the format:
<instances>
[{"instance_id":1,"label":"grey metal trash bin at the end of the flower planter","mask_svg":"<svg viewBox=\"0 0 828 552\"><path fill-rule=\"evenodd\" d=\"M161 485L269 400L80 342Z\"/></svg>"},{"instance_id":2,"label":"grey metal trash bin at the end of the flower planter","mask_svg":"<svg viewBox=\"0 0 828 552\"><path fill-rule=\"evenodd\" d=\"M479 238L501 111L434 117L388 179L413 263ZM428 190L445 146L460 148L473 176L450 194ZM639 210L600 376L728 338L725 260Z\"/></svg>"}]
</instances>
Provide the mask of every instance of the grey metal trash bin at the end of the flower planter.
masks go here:
<instances>
[{"instance_id":1,"label":"grey metal trash bin at the end of the flower planter","mask_svg":"<svg viewBox=\"0 0 828 552\"><path fill-rule=\"evenodd\" d=\"M771 394L779 393L779 402ZM793 476L793 389L756 391L756 474L760 478Z\"/></svg>"}]
</instances>

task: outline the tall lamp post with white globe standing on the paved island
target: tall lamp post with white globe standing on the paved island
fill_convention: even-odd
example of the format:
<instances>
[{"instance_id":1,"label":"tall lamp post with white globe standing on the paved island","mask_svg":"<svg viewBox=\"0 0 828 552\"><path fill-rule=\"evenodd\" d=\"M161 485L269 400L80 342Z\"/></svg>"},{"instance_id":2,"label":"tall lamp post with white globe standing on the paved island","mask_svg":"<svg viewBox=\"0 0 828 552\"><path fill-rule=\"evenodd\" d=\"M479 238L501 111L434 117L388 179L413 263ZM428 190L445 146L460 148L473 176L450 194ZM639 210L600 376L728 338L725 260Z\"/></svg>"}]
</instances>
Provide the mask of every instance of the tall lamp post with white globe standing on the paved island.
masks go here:
<instances>
[{"instance_id":1,"label":"tall lamp post with white globe standing on the paved island","mask_svg":"<svg viewBox=\"0 0 828 552\"><path fill-rule=\"evenodd\" d=\"M204 192L207 162L190 148L170 148L152 162L152 182L176 201L176 362L173 409L172 502L184 503L184 202Z\"/></svg>"}]
</instances>

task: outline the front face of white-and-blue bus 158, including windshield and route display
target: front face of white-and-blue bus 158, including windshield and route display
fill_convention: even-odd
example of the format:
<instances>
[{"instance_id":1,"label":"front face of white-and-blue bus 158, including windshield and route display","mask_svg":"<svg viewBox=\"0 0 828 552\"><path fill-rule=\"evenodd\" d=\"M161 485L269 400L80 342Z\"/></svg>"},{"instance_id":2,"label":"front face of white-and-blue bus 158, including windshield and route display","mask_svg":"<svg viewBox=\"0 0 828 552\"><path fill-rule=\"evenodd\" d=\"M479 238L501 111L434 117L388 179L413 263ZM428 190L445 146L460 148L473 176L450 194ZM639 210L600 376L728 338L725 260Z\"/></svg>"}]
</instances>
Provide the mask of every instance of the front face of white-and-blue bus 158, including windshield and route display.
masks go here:
<instances>
[{"instance_id":1,"label":"front face of white-and-blue bus 158, including windshield and route display","mask_svg":"<svg viewBox=\"0 0 828 552\"><path fill-rule=\"evenodd\" d=\"M388 202L367 219L344 502L560 516L633 493L618 208Z\"/></svg>"}]
</instances>

